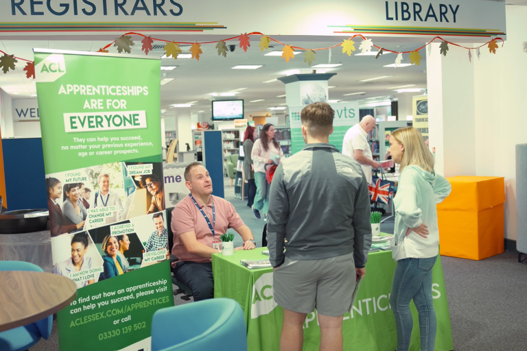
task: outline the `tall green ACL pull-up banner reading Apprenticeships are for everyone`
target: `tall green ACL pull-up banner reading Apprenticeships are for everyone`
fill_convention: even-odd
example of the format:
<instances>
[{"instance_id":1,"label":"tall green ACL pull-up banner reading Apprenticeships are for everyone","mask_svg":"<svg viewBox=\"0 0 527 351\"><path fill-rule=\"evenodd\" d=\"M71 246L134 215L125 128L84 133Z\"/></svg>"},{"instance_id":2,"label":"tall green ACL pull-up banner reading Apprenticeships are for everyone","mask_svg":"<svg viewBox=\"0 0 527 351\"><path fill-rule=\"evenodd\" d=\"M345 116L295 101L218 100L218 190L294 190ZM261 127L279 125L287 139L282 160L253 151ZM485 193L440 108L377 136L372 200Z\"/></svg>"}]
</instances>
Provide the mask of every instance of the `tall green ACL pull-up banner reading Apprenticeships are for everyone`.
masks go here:
<instances>
[{"instance_id":1,"label":"tall green ACL pull-up banner reading Apprenticeships are for everyone","mask_svg":"<svg viewBox=\"0 0 527 351\"><path fill-rule=\"evenodd\" d=\"M35 50L54 273L78 287L60 350L149 350L152 315L174 305L160 66Z\"/></svg>"}]
</instances>

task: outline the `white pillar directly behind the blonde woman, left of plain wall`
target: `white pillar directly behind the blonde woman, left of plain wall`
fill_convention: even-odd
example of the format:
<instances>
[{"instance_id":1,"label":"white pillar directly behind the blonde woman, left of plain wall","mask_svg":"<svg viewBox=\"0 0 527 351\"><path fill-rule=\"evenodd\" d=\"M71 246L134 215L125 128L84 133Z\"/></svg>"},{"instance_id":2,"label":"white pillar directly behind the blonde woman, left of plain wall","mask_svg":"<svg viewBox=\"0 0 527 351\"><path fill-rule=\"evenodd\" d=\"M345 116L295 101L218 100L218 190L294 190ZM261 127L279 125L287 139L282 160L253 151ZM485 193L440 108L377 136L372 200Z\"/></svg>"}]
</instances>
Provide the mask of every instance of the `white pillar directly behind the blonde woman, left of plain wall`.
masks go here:
<instances>
[{"instance_id":1,"label":"white pillar directly behind the blonde woman, left of plain wall","mask_svg":"<svg viewBox=\"0 0 527 351\"><path fill-rule=\"evenodd\" d=\"M428 129L436 171L445 177L476 175L473 63L466 49L451 45L442 56L439 45L432 44L430 55L426 49Z\"/></svg>"}]
</instances>

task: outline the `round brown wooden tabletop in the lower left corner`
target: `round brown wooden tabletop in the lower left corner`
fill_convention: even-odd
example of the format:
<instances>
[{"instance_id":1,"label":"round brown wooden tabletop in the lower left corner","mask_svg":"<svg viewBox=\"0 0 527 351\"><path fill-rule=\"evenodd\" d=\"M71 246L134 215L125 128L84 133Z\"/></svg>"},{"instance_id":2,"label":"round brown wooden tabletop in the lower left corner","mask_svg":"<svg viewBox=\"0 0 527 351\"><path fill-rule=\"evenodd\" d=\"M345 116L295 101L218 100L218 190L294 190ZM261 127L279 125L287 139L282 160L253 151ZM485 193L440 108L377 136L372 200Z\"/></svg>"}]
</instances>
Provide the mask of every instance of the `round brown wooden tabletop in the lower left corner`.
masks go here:
<instances>
[{"instance_id":1,"label":"round brown wooden tabletop in the lower left corner","mask_svg":"<svg viewBox=\"0 0 527 351\"><path fill-rule=\"evenodd\" d=\"M57 313L75 300L77 286L58 274L0 271L0 332Z\"/></svg>"}]
</instances>

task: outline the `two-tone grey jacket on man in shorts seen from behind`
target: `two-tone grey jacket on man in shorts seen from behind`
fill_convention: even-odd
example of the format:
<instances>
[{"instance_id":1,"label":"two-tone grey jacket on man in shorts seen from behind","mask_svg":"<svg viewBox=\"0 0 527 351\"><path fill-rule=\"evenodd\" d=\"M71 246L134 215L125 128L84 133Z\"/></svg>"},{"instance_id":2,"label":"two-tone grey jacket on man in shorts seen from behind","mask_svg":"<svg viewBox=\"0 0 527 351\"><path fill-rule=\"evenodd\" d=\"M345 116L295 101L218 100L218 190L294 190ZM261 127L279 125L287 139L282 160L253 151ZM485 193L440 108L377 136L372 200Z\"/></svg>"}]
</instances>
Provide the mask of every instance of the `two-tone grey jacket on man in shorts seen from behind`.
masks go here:
<instances>
[{"instance_id":1,"label":"two-tone grey jacket on man in shorts seen from behind","mask_svg":"<svg viewBox=\"0 0 527 351\"><path fill-rule=\"evenodd\" d=\"M353 252L355 267L364 267L370 197L360 165L329 144L306 145L285 159L271 182L267 238L273 267L283 263L284 247L293 260Z\"/></svg>"}]
</instances>

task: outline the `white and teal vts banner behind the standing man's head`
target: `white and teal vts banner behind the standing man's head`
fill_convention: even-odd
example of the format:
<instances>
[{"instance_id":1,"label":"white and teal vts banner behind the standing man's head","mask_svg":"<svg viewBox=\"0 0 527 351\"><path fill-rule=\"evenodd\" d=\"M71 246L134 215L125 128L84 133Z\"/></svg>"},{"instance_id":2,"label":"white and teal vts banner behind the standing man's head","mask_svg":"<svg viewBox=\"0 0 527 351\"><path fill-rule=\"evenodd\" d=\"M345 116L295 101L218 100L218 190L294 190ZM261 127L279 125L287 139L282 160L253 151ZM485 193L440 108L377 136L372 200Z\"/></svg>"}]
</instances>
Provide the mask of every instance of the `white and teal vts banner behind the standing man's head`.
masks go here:
<instances>
[{"instance_id":1,"label":"white and teal vts banner behind the standing man's head","mask_svg":"<svg viewBox=\"0 0 527 351\"><path fill-rule=\"evenodd\" d=\"M333 134L329 136L329 143L342 152L344 135L346 135L349 128L359 123L359 103L329 104L329 106L335 111L333 117ZM302 138L302 123L300 121L300 114L303 108L305 106L293 106L289 108L292 154L301 151L305 146L304 139Z\"/></svg>"}]
</instances>

